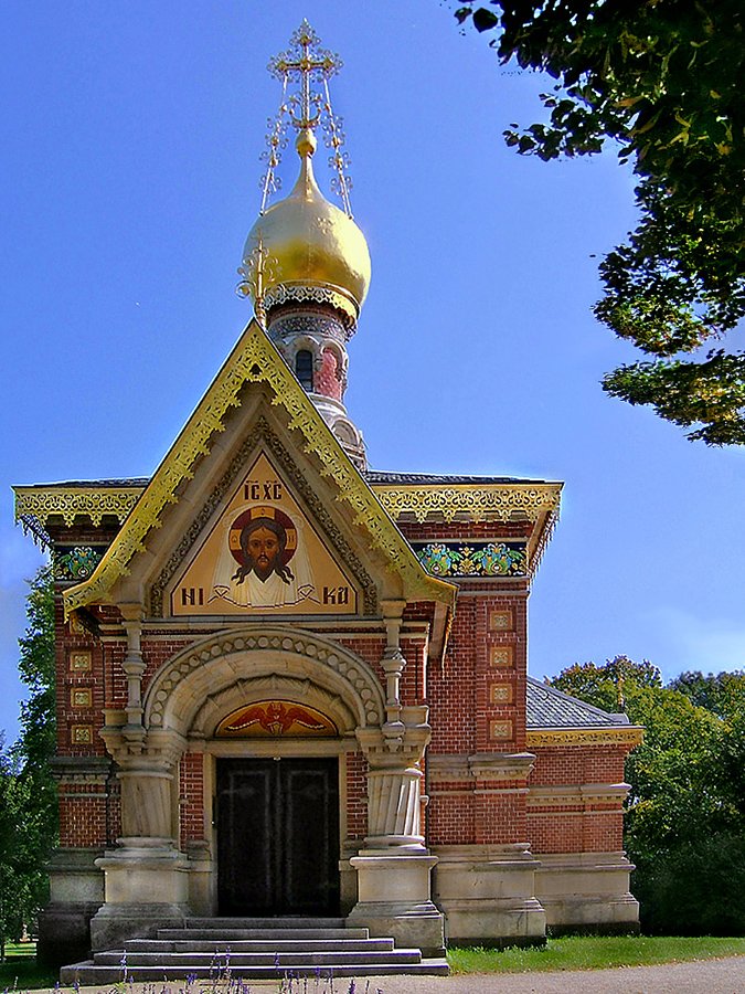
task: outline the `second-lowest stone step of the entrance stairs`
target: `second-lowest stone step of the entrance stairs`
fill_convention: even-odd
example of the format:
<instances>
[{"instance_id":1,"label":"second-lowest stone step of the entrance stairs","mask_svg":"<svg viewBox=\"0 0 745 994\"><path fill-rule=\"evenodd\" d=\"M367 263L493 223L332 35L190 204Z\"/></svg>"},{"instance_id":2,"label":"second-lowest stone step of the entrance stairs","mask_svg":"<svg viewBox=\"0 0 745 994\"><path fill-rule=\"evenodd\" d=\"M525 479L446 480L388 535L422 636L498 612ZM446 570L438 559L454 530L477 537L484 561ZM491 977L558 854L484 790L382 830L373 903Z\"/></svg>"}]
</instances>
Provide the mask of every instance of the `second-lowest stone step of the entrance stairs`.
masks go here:
<instances>
[{"instance_id":1,"label":"second-lowest stone step of the entrance stairs","mask_svg":"<svg viewBox=\"0 0 745 994\"><path fill-rule=\"evenodd\" d=\"M96 953L93 962L96 966L120 966L124 959L123 950ZM319 950L310 952L298 950L294 952L230 952L230 953L198 953L198 952L140 952L127 953L126 972L129 974L138 966L194 966L201 967L207 973L212 971L226 971L230 966L232 973L241 973L244 966L279 966L280 970L294 970L296 966L338 966L352 963L418 963L422 953L418 949L386 949L386 950L350 950L337 949ZM124 971L124 966L121 966Z\"/></svg>"}]
</instances>

